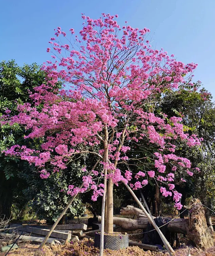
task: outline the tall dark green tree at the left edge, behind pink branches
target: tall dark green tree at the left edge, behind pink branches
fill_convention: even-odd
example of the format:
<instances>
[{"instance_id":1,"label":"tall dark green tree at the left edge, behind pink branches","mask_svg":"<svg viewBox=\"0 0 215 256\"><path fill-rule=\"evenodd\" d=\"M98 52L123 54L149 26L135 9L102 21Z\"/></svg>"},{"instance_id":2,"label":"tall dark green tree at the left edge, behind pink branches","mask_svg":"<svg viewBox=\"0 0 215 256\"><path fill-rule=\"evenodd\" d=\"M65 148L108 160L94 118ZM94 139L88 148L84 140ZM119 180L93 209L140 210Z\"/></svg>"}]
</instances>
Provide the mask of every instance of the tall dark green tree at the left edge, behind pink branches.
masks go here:
<instances>
[{"instance_id":1,"label":"tall dark green tree at the left edge, behind pink branches","mask_svg":"<svg viewBox=\"0 0 215 256\"><path fill-rule=\"evenodd\" d=\"M45 82L44 72L36 64L19 67L14 60L0 63L0 116L16 114L17 104L29 102L29 90ZM9 111L10 109L10 111ZM20 190L27 186L17 173L22 172L24 162L5 156L2 150L21 143L25 145L24 129L18 125L2 125L0 127L0 216L11 216L11 205L17 187Z\"/></svg>"}]
</instances>

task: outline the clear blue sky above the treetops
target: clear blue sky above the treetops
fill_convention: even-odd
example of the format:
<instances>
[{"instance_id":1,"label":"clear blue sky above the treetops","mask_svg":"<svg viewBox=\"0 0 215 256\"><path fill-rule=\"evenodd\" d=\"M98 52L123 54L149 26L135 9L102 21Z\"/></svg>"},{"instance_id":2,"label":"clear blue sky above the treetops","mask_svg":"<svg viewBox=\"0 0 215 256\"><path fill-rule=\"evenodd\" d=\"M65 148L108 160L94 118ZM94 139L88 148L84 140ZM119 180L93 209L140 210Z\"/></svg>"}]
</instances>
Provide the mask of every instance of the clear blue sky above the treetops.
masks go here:
<instances>
[{"instance_id":1,"label":"clear blue sky above the treetops","mask_svg":"<svg viewBox=\"0 0 215 256\"><path fill-rule=\"evenodd\" d=\"M53 29L81 29L81 13L118 14L133 27L151 30L153 45L178 60L198 63L195 79L215 97L215 0L2 0L0 60L42 64Z\"/></svg>"}]
</instances>

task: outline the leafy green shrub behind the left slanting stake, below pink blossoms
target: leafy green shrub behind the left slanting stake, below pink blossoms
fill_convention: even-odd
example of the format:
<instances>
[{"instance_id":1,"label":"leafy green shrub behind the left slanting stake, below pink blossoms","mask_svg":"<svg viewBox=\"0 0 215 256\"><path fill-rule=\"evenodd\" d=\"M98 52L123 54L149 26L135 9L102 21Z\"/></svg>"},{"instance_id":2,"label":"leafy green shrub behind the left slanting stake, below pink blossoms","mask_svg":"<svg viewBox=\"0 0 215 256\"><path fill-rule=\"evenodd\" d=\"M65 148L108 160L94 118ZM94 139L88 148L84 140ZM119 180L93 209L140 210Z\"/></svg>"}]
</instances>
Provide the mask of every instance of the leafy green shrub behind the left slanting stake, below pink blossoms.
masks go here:
<instances>
[{"instance_id":1,"label":"leafy green shrub behind the left slanting stake, below pink blossoms","mask_svg":"<svg viewBox=\"0 0 215 256\"><path fill-rule=\"evenodd\" d=\"M25 196L33 198L31 207L37 211L41 206L37 217L56 220L61 214L71 196L66 191L68 185L81 183L80 173L82 166L80 161L75 161L68 166L65 172L53 173L48 179L41 179L36 169L28 173L20 172L20 178L27 180L28 188L23 190ZM85 206L80 197L77 197L70 208L67 210L67 216L81 216L85 213Z\"/></svg>"}]
</instances>

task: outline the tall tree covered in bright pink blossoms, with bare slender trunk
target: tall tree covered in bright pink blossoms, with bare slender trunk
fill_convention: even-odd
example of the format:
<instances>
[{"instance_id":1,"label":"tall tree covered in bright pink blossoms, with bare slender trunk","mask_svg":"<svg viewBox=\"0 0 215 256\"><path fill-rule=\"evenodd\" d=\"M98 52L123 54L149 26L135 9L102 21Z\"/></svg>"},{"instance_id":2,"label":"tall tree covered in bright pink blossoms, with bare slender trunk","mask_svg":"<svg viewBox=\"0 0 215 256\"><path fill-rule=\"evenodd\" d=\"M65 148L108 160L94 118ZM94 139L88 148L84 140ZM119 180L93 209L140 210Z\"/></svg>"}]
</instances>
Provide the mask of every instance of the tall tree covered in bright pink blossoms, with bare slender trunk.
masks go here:
<instances>
[{"instance_id":1,"label":"tall tree covered in bright pink blossoms, with bare slender trunk","mask_svg":"<svg viewBox=\"0 0 215 256\"><path fill-rule=\"evenodd\" d=\"M46 84L30 95L34 104L18 106L18 115L5 115L2 121L24 125L26 138L32 141L42 138L40 148L14 145L6 151L37 166L42 178L66 171L77 157L101 160L92 175L83 168L82 188L71 184L67 193L73 196L92 190L95 201L103 195L107 172L107 233L113 232L113 186L120 182L136 190L147 185L148 179L158 180L163 196L173 197L180 209L174 173L180 169L193 175L193 170L188 159L174 154L174 142L200 145L197 136L183 131L181 118L154 113L162 95L176 90L197 65L185 65L163 49L154 50L147 40L149 29L132 28L127 22L120 28L117 17L82 16L79 35L74 29L66 35L58 27L47 48L52 60L42 68ZM59 81L63 89L53 92ZM142 142L143 151L150 154L137 151ZM134 175L131 162L140 168Z\"/></svg>"}]
</instances>

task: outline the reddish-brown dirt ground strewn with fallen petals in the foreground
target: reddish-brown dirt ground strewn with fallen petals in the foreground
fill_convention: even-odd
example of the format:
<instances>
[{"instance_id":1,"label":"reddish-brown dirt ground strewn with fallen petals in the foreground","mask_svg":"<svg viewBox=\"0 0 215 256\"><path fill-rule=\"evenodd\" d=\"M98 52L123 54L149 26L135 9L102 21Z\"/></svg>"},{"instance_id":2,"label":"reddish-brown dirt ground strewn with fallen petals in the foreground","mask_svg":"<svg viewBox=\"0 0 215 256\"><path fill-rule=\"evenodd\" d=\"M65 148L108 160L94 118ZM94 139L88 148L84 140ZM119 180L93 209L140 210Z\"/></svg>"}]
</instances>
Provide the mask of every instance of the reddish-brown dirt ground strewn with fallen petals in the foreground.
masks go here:
<instances>
[{"instance_id":1,"label":"reddish-brown dirt ground strewn with fallen petals in the foreground","mask_svg":"<svg viewBox=\"0 0 215 256\"><path fill-rule=\"evenodd\" d=\"M74 220L70 220L70 224L77 224L77 223L88 223L88 217L81 217L79 219L75 218ZM122 217L122 216L121 216ZM128 216L126 216L128 217ZM130 216L129 216L130 217ZM213 222L215 222L215 219L213 219ZM22 222L22 224L25 224ZM31 223L32 225L33 223ZM34 224L38 225L38 220L34 221ZM45 224L45 221L40 221L40 224ZM87 231L91 230L89 228ZM130 236L129 239L141 242L142 240L142 234L136 234L141 233L142 230L136 230L131 231L128 233L132 233L134 235ZM174 256L187 256L188 247L191 247L190 256L215 256L215 246L210 248L209 250L202 252L197 250L196 248L193 248L189 245L186 238L183 237L183 235L180 234L180 242L182 246L175 250ZM52 245L52 246L45 246L43 250L39 250L39 245L30 244L30 243L23 243L19 242L17 243L19 245L19 248L17 250L11 251L8 255L10 256L98 256L99 255L99 249L94 247L93 240L88 240L87 238L84 238L79 243L70 244L68 242L65 243L65 245ZM5 253L0 252L0 256L4 256ZM150 251L144 251L141 248L137 246L129 246L127 249L119 250L119 251L111 251L111 250L105 250L104 256L169 256L167 252L150 252Z\"/></svg>"}]
</instances>

